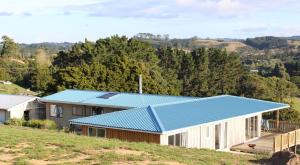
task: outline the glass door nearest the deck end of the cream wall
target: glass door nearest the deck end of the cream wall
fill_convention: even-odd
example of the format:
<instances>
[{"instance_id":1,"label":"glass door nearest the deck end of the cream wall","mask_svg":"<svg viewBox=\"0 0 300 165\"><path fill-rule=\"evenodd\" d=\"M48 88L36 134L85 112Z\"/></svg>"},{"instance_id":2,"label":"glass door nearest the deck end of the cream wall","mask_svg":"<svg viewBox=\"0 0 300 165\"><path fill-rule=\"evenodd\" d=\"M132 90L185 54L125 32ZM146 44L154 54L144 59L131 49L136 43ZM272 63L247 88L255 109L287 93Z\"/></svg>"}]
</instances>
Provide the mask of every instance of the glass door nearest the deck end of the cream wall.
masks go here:
<instances>
[{"instance_id":1,"label":"glass door nearest the deck end of the cream wall","mask_svg":"<svg viewBox=\"0 0 300 165\"><path fill-rule=\"evenodd\" d=\"M258 116L246 118L246 140L253 139L255 137L258 137Z\"/></svg>"}]
</instances>

